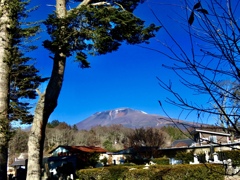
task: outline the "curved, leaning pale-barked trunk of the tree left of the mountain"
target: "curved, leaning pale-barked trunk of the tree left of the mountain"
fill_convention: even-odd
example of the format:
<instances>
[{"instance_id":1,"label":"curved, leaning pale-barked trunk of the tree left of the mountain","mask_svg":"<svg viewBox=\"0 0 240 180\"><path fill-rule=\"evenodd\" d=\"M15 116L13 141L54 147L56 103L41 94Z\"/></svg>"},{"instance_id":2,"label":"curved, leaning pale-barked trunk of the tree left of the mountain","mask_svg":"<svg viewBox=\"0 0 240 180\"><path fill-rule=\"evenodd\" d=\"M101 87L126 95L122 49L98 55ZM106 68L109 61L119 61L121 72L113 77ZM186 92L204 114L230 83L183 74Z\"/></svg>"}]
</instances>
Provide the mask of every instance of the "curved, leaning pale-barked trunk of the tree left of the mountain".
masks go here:
<instances>
[{"instance_id":1,"label":"curved, leaning pale-barked trunk of the tree left of the mountain","mask_svg":"<svg viewBox=\"0 0 240 180\"><path fill-rule=\"evenodd\" d=\"M58 17L66 16L65 0L57 0L56 12ZM43 158L43 148L45 130L48 118L57 107L57 100L62 88L66 55L61 47L55 53L53 59L53 69L46 91L40 95L35 109L33 124L28 140L28 166L27 180L41 179L41 165Z\"/></svg>"}]
</instances>

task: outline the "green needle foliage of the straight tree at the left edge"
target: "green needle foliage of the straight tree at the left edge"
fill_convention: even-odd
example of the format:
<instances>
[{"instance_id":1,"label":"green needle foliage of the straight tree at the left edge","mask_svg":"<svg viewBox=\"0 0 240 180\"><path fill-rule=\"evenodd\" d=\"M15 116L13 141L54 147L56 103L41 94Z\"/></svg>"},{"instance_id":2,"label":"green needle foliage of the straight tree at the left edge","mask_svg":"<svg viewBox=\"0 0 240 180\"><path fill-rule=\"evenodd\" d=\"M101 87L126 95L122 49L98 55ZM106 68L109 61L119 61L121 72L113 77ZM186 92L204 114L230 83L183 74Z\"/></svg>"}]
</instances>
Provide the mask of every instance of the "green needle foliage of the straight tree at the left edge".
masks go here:
<instances>
[{"instance_id":1,"label":"green needle foliage of the straight tree at the left edge","mask_svg":"<svg viewBox=\"0 0 240 180\"><path fill-rule=\"evenodd\" d=\"M39 25L26 22L28 11L26 7L29 1L12 0L8 2L10 11L10 26L7 29L10 34L9 47L7 49L7 63L10 67L10 102L9 120L21 120L22 123L31 123L32 108L26 99L35 99L36 88L46 78L41 78L38 70L30 64L32 60L24 55L25 52L36 49L29 45L31 38L39 31Z\"/></svg>"}]
</instances>

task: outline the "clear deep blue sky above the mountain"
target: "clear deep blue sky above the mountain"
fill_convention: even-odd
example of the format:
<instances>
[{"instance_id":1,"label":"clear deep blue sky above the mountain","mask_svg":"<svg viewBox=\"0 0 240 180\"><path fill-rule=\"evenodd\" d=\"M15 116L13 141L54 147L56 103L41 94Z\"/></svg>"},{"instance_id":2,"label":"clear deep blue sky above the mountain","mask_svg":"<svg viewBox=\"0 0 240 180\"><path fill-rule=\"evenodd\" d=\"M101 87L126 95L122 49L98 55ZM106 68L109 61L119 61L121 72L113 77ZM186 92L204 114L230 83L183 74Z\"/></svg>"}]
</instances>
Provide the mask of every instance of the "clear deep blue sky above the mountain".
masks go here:
<instances>
[{"instance_id":1,"label":"clear deep blue sky above the mountain","mask_svg":"<svg viewBox=\"0 0 240 180\"><path fill-rule=\"evenodd\" d=\"M40 9L32 15L34 20L43 20L48 13L54 10L53 6L47 6L46 4L55 5L55 0L33 1L34 4L40 5ZM184 32L179 24L174 22L174 19L171 19L174 17L179 19L178 15L176 16L176 10L179 11L181 8L174 5L178 4L179 1L166 1L169 5L154 2L158 1L150 0L141 5L135 15L145 20L146 24L156 23L158 25L149 9L149 6L151 6L177 40L183 42L186 49L188 49ZM46 34L41 34L41 40L46 37ZM153 38L150 45L147 46L154 49L161 48L157 42L158 39L169 41L165 32L160 30L157 37ZM48 57L48 51L41 47L41 41L39 41L39 49L32 55L36 57L40 74L49 76L52 60ZM117 52L108 55L89 56L89 61L91 68L81 69L73 58L68 59L58 106L50 116L49 121L56 119L73 125L95 112L121 107L129 107L145 111L148 114L165 116L164 112L161 111L158 100L164 102L164 99L169 97L169 94L161 89L156 77L165 81L171 79L177 83L176 88L179 91L186 93L186 96L190 97L190 93L182 89L175 75L162 67L163 63L169 63L170 60L157 52L138 46L123 45ZM40 90L44 91L44 89L45 85L42 85ZM165 103L164 107L171 117L178 118L180 109ZM195 115L193 114L189 120L195 120Z\"/></svg>"}]
</instances>

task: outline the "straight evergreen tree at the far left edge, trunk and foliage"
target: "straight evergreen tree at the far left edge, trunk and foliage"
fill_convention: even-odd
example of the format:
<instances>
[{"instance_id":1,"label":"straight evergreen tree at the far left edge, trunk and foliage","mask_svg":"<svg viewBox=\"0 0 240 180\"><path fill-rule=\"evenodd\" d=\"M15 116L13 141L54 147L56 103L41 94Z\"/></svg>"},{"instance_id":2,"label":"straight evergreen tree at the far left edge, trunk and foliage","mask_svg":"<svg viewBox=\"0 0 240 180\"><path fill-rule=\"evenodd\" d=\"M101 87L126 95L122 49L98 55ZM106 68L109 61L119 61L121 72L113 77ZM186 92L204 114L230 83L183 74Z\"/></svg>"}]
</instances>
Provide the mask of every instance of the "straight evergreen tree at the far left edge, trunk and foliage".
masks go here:
<instances>
[{"instance_id":1,"label":"straight evergreen tree at the far left edge, trunk and foliage","mask_svg":"<svg viewBox=\"0 0 240 180\"><path fill-rule=\"evenodd\" d=\"M7 179L8 142L11 138L10 122L20 120L30 123L30 103L35 99L36 88L46 79L30 65L29 57L24 56L34 46L26 45L39 26L29 24L26 6L29 1L3 0L0 7L0 180ZM21 21L22 20L22 21Z\"/></svg>"}]
</instances>

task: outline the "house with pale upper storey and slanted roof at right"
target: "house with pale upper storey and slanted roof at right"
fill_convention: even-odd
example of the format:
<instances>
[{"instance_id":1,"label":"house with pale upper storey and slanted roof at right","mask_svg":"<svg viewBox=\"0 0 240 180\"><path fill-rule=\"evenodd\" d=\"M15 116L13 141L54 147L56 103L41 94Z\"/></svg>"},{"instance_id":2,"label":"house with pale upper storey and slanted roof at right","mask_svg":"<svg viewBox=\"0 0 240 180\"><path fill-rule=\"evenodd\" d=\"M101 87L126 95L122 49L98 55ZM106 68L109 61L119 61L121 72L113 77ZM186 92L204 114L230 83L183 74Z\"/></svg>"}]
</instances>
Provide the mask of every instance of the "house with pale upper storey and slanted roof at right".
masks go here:
<instances>
[{"instance_id":1,"label":"house with pale upper storey and slanted roof at right","mask_svg":"<svg viewBox=\"0 0 240 180\"><path fill-rule=\"evenodd\" d=\"M212 153L224 150L232 150L240 147L240 141L231 141L231 134L225 133L222 129L195 129L191 132L192 139L176 140L171 147L159 148L162 156L174 157L179 151L193 151L194 153Z\"/></svg>"}]
</instances>

